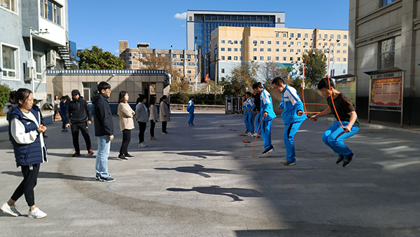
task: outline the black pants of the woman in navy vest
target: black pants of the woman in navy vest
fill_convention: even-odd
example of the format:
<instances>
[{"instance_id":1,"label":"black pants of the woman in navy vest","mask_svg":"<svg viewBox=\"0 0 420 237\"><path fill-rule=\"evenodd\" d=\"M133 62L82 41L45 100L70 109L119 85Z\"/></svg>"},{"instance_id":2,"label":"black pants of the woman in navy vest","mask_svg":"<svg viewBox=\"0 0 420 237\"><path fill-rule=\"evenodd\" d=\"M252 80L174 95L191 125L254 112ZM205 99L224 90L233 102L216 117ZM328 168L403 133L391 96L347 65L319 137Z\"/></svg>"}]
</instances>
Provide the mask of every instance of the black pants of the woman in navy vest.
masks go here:
<instances>
[{"instance_id":1,"label":"black pants of the woman in navy vest","mask_svg":"<svg viewBox=\"0 0 420 237\"><path fill-rule=\"evenodd\" d=\"M20 168L22 168L23 180L11 197L13 201L18 201L18 199L25 194L28 205L35 205L34 188L36 186L36 179L38 178L40 166L41 164L32 165L32 169L30 169L29 165L20 166Z\"/></svg>"}]
</instances>

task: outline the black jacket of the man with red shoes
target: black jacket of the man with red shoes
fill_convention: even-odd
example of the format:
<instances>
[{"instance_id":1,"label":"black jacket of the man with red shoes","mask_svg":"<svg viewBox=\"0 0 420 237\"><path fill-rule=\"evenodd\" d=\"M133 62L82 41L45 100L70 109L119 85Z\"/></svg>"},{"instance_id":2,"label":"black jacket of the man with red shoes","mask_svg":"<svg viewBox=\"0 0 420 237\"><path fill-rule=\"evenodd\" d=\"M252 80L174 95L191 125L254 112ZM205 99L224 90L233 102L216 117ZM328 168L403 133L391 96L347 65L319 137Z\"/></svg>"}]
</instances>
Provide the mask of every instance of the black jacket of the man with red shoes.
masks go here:
<instances>
[{"instance_id":1,"label":"black jacket of the man with red shoes","mask_svg":"<svg viewBox=\"0 0 420 237\"><path fill-rule=\"evenodd\" d=\"M83 100L80 97L78 100L71 100L69 109L67 109L66 113L66 123L69 123L69 121L71 123L92 121L92 113L90 112L90 107L86 100Z\"/></svg>"}]
</instances>

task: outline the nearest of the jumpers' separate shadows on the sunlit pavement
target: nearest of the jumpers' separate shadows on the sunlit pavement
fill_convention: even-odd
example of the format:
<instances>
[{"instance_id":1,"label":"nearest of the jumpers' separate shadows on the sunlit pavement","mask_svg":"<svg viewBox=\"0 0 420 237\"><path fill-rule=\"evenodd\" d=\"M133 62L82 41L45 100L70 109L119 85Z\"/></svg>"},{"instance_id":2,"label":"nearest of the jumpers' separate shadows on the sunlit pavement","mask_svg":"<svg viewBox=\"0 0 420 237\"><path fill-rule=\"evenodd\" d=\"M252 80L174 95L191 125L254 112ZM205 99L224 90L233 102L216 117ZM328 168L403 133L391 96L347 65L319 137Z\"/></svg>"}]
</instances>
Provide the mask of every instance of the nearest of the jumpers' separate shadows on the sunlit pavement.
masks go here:
<instances>
[{"instance_id":1,"label":"nearest of the jumpers' separate shadows on the sunlit pavement","mask_svg":"<svg viewBox=\"0 0 420 237\"><path fill-rule=\"evenodd\" d=\"M232 198L232 202L235 201L244 201L239 197L247 198L258 198L262 197L262 193L255 189L240 189L240 188L221 188L217 185L211 185L209 187L193 187L192 189L181 189L181 188L168 188L167 191L197 191L200 194L211 194L211 195L221 195L228 196Z\"/></svg>"}]
</instances>

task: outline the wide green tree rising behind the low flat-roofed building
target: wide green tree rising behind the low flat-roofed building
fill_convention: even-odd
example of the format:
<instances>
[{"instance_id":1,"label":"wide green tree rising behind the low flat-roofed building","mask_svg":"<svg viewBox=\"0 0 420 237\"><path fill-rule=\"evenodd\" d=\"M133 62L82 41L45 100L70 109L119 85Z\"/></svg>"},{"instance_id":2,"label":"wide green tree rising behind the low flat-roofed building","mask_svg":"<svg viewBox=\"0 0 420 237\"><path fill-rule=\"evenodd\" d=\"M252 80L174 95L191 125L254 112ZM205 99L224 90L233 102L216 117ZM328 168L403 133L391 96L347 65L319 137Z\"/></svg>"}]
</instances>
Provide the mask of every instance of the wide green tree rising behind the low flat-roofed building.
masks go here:
<instances>
[{"instance_id":1,"label":"wide green tree rising behind the low flat-roofed building","mask_svg":"<svg viewBox=\"0 0 420 237\"><path fill-rule=\"evenodd\" d=\"M91 50L85 49L77 55L80 57L80 69L123 69L125 66L124 60L109 52L104 52L98 46L92 46Z\"/></svg>"}]
</instances>

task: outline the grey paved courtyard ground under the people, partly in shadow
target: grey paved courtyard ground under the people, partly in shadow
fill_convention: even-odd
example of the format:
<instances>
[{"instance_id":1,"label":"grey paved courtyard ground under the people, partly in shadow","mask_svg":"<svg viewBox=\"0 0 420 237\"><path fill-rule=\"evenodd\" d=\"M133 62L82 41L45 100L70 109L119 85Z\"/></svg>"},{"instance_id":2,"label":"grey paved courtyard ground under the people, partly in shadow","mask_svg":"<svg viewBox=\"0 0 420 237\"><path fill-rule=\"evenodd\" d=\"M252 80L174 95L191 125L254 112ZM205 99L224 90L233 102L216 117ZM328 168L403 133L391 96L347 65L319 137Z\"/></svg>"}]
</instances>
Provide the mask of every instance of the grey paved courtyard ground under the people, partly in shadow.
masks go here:
<instances>
[{"instance_id":1,"label":"grey paved courtyard ground under the people, partly in shadow","mask_svg":"<svg viewBox=\"0 0 420 237\"><path fill-rule=\"evenodd\" d=\"M94 157L71 157L71 135L48 126L50 162L35 189L48 217L1 213L0 236L420 236L420 135L363 128L347 142L355 163L342 168L321 141L330 121L307 121L296 136L297 165L283 167L281 119L275 151L262 158L261 140L253 156L253 140L239 137L242 116L197 114L194 128L187 116L173 114L169 135L159 125L146 149L134 130L130 161L116 160L116 133L113 183L95 181ZM22 178L7 133L0 140L3 202ZM25 199L17 205L26 215Z\"/></svg>"}]
</instances>

